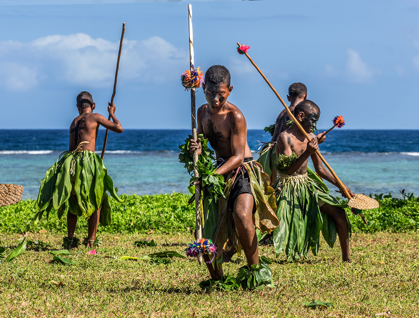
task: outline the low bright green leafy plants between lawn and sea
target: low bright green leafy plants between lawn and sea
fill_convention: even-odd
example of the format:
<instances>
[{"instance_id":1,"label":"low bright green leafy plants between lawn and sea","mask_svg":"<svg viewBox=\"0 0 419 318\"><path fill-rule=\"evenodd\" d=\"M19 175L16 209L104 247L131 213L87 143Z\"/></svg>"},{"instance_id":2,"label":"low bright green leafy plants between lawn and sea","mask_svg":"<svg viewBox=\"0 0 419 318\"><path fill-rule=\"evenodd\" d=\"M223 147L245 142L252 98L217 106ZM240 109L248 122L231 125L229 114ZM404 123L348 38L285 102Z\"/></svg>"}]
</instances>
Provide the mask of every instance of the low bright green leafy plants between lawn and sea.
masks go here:
<instances>
[{"instance_id":1,"label":"low bright green leafy plants between lawn and sea","mask_svg":"<svg viewBox=\"0 0 419 318\"><path fill-rule=\"evenodd\" d=\"M194 205L187 206L191 195L172 193L163 195L121 195L124 203L111 199L112 223L100 226L99 232L106 233L173 233L191 231L195 228ZM405 196L404 199L391 195L376 195L380 208L365 210L366 226L359 216L347 209L352 231L355 233L376 233L413 231L419 229L419 197ZM0 233L37 232L39 230L66 233L65 214L59 220L57 212L51 211L49 219L38 224L31 222L37 212L36 201L24 200L0 208ZM189 230L188 230L189 228ZM87 222L79 219L77 231L87 231Z\"/></svg>"}]
</instances>

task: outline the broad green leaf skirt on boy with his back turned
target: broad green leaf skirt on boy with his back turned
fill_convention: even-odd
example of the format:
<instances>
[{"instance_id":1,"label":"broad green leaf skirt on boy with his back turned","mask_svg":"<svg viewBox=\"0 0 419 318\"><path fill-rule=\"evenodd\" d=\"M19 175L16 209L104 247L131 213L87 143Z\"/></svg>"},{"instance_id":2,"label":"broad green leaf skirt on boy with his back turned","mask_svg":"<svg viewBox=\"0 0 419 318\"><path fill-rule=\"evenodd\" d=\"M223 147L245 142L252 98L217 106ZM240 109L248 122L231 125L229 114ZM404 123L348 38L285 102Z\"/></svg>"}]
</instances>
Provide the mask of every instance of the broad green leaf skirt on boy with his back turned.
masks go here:
<instances>
[{"instance_id":1,"label":"broad green leaf skirt on boy with his back turned","mask_svg":"<svg viewBox=\"0 0 419 318\"><path fill-rule=\"evenodd\" d=\"M52 208L61 218L67 205L70 213L86 219L101 208L99 221L107 226L111 223L111 205L106 191L123 202L100 156L88 150L65 151L41 180L34 222L40 221L44 212L48 218Z\"/></svg>"}]
</instances>

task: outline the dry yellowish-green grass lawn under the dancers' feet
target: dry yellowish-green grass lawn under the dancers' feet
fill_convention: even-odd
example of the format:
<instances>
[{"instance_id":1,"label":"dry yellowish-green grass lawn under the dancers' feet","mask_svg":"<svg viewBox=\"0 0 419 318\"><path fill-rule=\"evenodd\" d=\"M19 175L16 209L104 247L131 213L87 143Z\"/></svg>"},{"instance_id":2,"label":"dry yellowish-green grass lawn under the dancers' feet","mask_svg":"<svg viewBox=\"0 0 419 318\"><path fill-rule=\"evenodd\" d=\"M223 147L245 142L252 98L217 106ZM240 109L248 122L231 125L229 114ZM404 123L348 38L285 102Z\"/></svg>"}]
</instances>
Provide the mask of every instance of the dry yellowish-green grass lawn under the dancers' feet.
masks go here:
<instances>
[{"instance_id":1,"label":"dry yellowish-green grass lawn under the dancers' feet","mask_svg":"<svg viewBox=\"0 0 419 318\"><path fill-rule=\"evenodd\" d=\"M0 234L6 256L20 236ZM324 241L317 257L310 254L308 260L287 264L282 255L271 264L276 287L263 292L203 292L198 283L207 279L207 270L194 259L175 258L170 264L117 260L181 252L191 241L189 233L101 233L99 255L86 255L80 246L75 253L82 254L67 256L77 265L51 263L49 249L61 249L62 237L28 233L28 239L43 241L48 249L28 249L0 264L0 317L372 317L388 310L393 317L419 316L417 231L354 233L352 264L341 262L339 244L330 249ZM145 238L158 245L133 246ZM259 253L274 258L273 246L262 246ZM234 256L224 272L235 273L244 264L243 257ZM303 306L313 299L335 307Z\"/></svg>"}]
</instances>

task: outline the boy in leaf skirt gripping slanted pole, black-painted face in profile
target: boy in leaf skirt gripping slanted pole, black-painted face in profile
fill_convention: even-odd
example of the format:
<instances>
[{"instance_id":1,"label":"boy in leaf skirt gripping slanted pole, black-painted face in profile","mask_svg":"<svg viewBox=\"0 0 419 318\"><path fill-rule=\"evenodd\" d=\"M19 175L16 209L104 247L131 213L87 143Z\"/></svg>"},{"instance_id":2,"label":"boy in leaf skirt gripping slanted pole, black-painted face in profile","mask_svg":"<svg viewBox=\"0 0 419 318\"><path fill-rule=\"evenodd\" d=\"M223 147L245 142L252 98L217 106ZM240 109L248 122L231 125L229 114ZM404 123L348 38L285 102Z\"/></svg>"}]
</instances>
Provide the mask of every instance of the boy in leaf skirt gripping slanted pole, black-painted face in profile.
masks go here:
<instances>
[{"instance_id":1,"label":"boy in leaf skirt gripping slanted pole, black-painted face in profile","mask_svg":"<svg viewBox=\"0 0 419 318\"><path fill-rule=\"evenodd\" d=\"M317 137L312 131L320 117L320 109L312 101L303 100L295 106L294 114L312 140L307 142L295 123L279 134L277 139L276 168L279 173L274 188L280 223L273 232L275 252L278 256L285 251L289 262L307 256L310 249L317 255L320 231L330 247L334 246L337 233L342 259L350 262L351 225L343 209L347 205L341 205L336 198L328 195L328 190L321 182L307 174L308 158L311 157L316 173L339 188L316 154ZM348 187L347 190L352 195ZM339 192L345 197L342 189Z\"/></svg>"}]
</instances>

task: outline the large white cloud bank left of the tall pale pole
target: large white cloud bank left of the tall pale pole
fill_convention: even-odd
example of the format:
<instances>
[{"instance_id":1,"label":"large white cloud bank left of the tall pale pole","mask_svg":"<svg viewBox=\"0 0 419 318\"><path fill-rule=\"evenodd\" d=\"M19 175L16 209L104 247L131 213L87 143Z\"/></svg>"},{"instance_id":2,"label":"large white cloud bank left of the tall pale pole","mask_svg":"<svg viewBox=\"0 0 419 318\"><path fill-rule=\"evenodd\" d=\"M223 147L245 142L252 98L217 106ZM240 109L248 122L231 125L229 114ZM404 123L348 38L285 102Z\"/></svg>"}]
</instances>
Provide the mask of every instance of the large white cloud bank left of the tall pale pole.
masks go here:
<instances>
[{"instance_id":1,"label":"large white cloud bank left of the tall pale pole","mask_svg":"<svg viewBox=\"0 0 419 318\"><path fill-rule=\"evenodd\" d=\"M36 86L39 78L48 77L72 85L109 87L114 81L118 49L119 42L84 33L50 35L29 43L0 42L1 69L11 74L5 78L5 86L26 90ZM188 65L187 52L163 38L124 40L119 78L162 83L184 65Z\"/></svg>"}]
</instances>

